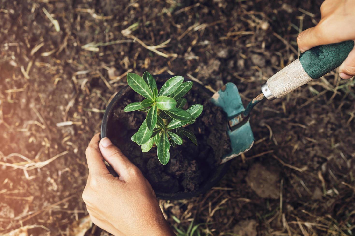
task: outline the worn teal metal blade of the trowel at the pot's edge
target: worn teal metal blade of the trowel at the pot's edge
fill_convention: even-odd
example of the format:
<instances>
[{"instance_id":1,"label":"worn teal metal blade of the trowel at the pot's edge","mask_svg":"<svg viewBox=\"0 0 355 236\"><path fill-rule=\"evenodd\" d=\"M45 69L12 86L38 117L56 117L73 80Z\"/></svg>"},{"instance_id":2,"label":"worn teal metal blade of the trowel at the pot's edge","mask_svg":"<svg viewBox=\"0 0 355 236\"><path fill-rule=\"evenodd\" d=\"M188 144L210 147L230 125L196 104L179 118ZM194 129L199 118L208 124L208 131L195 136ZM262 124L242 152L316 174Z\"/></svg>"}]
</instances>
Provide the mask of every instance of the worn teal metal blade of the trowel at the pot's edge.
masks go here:
<instances>
[{"instance_id":1,"label":"worn teal metal blade of the trowel at the pot's edge","mask_svg":"<svg viewBox=\"0 0 355 236\"><path fill-rule=\"evenodd\" d=\"M245 110L238 88L233 83L224 85L212 96L211 102L224 110L228 120L233 119ZM229 128L228 123L226 126L228 126L232 151L223 157L222 163L248 151L254 144L249 120L234 130Z\"/></svg>"}]
</instances>

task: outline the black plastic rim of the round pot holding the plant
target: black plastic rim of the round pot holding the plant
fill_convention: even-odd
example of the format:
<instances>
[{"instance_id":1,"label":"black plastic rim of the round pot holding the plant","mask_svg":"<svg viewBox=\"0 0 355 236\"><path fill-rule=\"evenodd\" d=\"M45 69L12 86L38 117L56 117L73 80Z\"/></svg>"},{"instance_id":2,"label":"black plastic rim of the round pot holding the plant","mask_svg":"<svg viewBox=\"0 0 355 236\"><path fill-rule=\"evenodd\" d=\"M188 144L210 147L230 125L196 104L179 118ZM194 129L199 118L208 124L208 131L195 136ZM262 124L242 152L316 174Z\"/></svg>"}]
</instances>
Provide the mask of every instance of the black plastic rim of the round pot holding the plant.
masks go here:
<instances>
[{"instance_id":1,"label":"black plastic rim of the round pot holding the plant","mask_svg":"<svg viewBox=\"0 0 355 236\"><path fill-rule=\"evenodd\" d=\"M166 81L171 76L170 75L155 75L154 77L157 80L162 79L162 80ZM207 90L205 87L203 87L202 85L200 85L198 83L194 83L193 86L199 87L202 91L206 92L210 96L213 95L213 93L211 91ZM128 92L132 92L132 89L127 85L116 94L116 96L111 100L111 102L107 106L104 117L102 119L102 125L101 125L101 137L102 138L104 138L104 137L111 138L108 136L109 129L110 129L110 127L108 127L108 124L110 123L109 121L111 118L113 108L115 107L116 103L119 103L120 100L122 98L124 98L125 94ZM137 145L137 148L139 148L138 145ZM224 176L224 174L226 173L226 171L229 168L229 165L227 165L227 163L228 162L223 163L222 165L218 166L218 168L215 169L214 173L211 173L210 178L207 179L206 182L201 185L201 188L195 192L165 193L165 192L160 192L158 189L154 189L155 194L157 195L157 197L159 199L163 199L163 200L181 200L181 199L191 198L191 197L195 197L197 195L203 194L207 190L211 189L214 185L216 185L220 179L222 179L222 177ZM109 167L109 170L111 173L114 172L111 167ZM113 174L115 174L115 173L113 173Z\"/></svg>"}]
</instances>

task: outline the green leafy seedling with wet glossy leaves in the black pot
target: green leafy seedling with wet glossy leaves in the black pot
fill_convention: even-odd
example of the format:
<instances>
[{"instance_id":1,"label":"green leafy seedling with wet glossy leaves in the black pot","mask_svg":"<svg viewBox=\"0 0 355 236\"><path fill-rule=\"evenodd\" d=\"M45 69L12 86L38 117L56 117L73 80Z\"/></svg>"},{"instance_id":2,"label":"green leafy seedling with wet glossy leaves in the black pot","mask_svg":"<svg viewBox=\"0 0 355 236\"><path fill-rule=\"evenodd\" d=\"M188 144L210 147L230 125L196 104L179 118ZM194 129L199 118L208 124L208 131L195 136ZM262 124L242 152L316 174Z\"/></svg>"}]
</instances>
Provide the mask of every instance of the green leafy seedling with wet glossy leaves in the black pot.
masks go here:
<instances>
[{"instance_id":1,"label":"green leafy seedling with wet glossy leaves in the black pot","mask_svg":"<svg viewBox=\"0 0 355 236\"><path fill-rule=\"evenodd\" d=\"M183 96L192 88L192 81L184 82L184 77L174 76L167 80L158 92L157 83L146 71L143 77L128 73L127 83L146 98L142 102L130 103L124 109L147 112L146 119L131 138L133 142L141 145L142 152L149 151L155 144L158 147L160 163L166 165L170 159L170 145L181 145L184 136L197 145L195 134L183 128L194 123L203 110L201 104L192 105L187 110L182 109L187 102Z\"/></svg>"}]
</instances>

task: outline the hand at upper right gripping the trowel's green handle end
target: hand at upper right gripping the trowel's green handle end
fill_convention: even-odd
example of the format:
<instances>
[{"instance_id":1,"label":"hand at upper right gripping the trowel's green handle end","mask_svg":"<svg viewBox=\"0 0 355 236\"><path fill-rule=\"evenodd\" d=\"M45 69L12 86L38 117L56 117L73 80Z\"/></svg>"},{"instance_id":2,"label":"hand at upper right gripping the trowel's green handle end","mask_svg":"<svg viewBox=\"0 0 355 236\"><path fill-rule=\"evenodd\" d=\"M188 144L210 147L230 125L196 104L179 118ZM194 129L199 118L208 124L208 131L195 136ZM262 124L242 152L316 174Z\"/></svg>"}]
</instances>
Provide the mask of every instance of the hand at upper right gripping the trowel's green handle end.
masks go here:
<instances>
[{"instance_id":1,"label":"hand at upper right gripping the trowel's green handle end","mask_svg":"<svg viewBox=\"0 0 355 236\"><path fill-rule=\"evenodd\" d=\"M326 0L321 6L321 21L301 32L297 44L301 52L312 47L355 40L355 0ZM339 75L350 79L355 75L355 48L339 67Z\"/></svg>"}]
</instances>

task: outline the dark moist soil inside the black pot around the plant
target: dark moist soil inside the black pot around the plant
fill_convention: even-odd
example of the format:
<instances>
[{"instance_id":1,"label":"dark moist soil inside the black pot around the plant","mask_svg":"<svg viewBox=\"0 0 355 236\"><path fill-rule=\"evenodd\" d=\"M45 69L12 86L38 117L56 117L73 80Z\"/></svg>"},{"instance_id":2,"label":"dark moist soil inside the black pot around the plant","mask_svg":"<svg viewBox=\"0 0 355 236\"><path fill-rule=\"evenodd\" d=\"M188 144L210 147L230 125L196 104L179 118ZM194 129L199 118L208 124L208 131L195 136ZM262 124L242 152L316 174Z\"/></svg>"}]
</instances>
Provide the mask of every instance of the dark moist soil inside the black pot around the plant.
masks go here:
<instances>
[{"instance_id":1,"label":"dark moist soil inside the black pot around the plant","mask_svg":"<svg viewBox=\"0 0 355 236\"><path fill-rule=\"evenodd\" d=\"M167 78L158 79L158 87L159 80L164 82ZM143 98L140 95L127 88L122 98L114 105L108 119L107 136L141 169L156 192L198 191L213 175L222 156L231 150L226 133L227 120L223 110L209 102L211 94L195 83L184 97L188 101L184 109L193 104L203 104L200 117L186 127L195 133L198 145L185 137L182 145L170 147L170 161L165 166L159 162L155 146L149 152L143 153L141 147L131 140L147 113L142 111L127 113L123 109L131 102L141 101Z\"/></svg>"}]
</instances>

